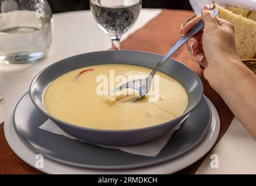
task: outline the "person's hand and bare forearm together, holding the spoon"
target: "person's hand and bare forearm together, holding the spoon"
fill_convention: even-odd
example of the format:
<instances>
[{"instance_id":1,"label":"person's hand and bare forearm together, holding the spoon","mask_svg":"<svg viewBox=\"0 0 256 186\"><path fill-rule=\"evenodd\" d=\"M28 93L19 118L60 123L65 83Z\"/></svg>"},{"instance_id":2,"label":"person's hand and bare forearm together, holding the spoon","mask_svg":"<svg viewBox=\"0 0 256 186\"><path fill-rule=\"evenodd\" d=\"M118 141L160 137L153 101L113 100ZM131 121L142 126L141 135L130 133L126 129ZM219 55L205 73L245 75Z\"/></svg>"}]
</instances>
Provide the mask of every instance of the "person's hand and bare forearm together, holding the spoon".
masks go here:
<instances>
[{"instance_id":1,"label":"person's hand and bare forearm together, holding the spoon","mask_svg":"<svg viewBox=\"0 0 256 186\"><path fill-rule=\"evenodd\" d=\"M206 80L256 140L256 76L237 54L233 25L211 12L205 5L202 16L185 24L180 33L184 35L201 19L204 20L204 32L187 42L191 58L205 68Z\"/></svg>"}]
</instances>

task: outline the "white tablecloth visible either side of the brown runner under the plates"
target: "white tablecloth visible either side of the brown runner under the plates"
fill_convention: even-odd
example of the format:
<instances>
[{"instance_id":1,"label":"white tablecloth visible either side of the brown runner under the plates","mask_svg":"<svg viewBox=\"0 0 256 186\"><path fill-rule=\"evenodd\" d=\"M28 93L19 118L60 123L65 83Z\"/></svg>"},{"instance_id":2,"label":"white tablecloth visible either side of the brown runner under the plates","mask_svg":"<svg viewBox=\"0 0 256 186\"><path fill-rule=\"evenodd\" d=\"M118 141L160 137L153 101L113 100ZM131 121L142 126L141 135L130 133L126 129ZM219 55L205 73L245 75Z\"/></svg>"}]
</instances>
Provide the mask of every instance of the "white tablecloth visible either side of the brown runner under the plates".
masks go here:
<instances>
[{"instance_id":1,"label":"white tablecloth visible either side of the brown runner under the plates","mask_svg":"<svg viewBox=\"0 0 256 186\"><path fill-rule=\"evenodd\" d=\"M160 9L142 9L135 25L122 39L157 16ZM110 39L97 27L89 11L59 13L53 16L52 44L47 58L26 65L0 64L0 123L10 106L29 90L33 77L51 63L79 53L105 50ZM1 150L1 149L0 149ZM219 158L219 168L211 168L211 155ZM256 142L237 119L197 170L197 174L256 174Z\"/></svg>"}]
</instances>

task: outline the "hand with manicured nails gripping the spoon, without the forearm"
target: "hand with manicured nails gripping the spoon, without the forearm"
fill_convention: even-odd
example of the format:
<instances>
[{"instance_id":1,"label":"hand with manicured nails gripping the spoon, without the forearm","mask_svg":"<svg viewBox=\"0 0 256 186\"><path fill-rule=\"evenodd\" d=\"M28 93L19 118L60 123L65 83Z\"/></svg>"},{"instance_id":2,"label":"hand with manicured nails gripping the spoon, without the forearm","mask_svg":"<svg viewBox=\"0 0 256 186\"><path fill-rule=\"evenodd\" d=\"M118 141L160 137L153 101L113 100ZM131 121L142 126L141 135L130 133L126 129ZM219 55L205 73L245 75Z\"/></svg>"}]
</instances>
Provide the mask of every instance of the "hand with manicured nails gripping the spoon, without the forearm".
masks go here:
<instances>
[{"instance_id":1,"label":"hand with manicured nails gripping the spoon, without the forearm","mask_svg":"<svg viewBox=\"0 0 256 186\"><path fill-rule=\"evenodd\" d=\"M214 16L209 5L202 8L202 16L190 20L180 29L181 35L186 34L200 20L205 23L204 31L187 41L191 58L199 63L204 70L204 77L210 84L215 84L218 78L225 76L234 62L240 58L234 42L234 27L232 23ZM214 88L214 87L213 87Z\"/></svg>"}]
</instances>

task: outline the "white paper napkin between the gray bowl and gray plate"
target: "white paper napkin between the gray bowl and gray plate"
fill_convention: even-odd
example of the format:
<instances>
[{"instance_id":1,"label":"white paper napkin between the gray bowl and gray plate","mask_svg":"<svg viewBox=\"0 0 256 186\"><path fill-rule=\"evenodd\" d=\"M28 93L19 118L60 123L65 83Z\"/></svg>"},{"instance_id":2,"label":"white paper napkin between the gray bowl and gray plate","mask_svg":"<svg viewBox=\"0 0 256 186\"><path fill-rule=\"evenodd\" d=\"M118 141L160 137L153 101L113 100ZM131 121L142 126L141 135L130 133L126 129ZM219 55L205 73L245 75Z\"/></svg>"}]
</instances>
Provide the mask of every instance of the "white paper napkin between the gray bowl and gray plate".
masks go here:
<instances>
[{"instance_id":1,"label":"white paper napkin between the gray bowl and gray plate","mask_svg":"<svg viewBox=\"0 0 256 186\"><path fill-rule=\"evenodd\" d=\"M111 148L111 149L120 149L121 151L132 153L134 155L150 156L150 157L157 156L160 153L160 151L164 148L164 146L166 146L167 142L170 140L173 133L181 127L181 124L183 123L183 121L178 123L177 126L172 128L162 137L156 138L148 142L144 142L142 144L128 145L128 146L106 146L106 145L98 145L98 146L102 146L104 148ZM72 137L69 134L66 134L63 130L61 130L61 128L57 126L57 124L55 124L51 120L45 121L39 128L42 130L49 131L50 133L64 135L65 137L71 138L72 140L78 140L77 138ZM97 145L97 144L94 144L94 145Z\"/></svg>"}]
</instances>

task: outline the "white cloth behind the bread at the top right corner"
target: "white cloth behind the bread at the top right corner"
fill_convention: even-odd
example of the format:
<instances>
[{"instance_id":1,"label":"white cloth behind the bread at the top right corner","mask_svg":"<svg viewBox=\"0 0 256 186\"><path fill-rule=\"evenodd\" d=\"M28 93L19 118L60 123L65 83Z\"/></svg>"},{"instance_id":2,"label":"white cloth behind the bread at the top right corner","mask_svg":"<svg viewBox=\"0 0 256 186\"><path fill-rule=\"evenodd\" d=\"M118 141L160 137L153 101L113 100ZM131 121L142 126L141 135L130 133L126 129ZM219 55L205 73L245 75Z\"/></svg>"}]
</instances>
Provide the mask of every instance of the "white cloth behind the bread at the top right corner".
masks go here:
<instances>
[{"instance_id":1,"label":"white cloth behind the bread at the top right corner","mask_svg":"<svg viewBox=\"0 0 256 186\"><path fill-rule=\"evenodd\" d=\"M256 0L215 0L220 6L240 6L256 11ZM204 5L210 5L212 0L190 0L190 5L197 15L201 15L201 9Z\"/></svg>"}]
</instances>

